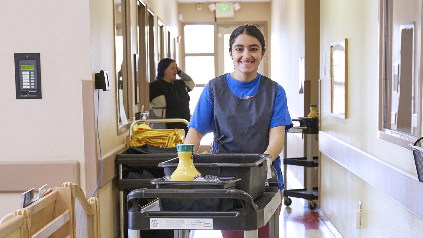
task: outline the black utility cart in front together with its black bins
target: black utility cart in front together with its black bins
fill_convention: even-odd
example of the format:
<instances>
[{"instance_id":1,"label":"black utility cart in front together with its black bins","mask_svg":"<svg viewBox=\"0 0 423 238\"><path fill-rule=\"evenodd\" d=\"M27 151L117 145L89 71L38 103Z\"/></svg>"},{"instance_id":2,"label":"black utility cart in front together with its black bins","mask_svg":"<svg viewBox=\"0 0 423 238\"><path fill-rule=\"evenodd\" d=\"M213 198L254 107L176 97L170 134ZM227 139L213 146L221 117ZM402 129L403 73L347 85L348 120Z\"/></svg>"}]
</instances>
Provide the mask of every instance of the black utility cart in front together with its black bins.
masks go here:
<instances>
[{"instance_id":1,"label":"black utility cart in front together with its black bins","mask_svg":"<svg viewBox=\"0 0 423 238\"><path fill-rule=\"evenodd\" d=\"M231 155L236 158L228 160ZM174 230L175 238L186 238L187 230L244 230L245 238L257 238L258 228L269 221L270 238L278 238L281 191L275 168L271 167L272 179L266 180L264 166L268 156L194 154L194 165L201 174L227 177L231 184L225 186L231 188L214 188L214 182L210 185L204 182L201 187L195 182L170 181L179 183L180 187L160 187L156 184L157 188L131 191L127 196L128 237L138 238L140 230ZM219 163L220 160L242 159L246 162ZM217 163L208 163L211 161ZM176 161L160 164L165 166L165 174L172 172L170 166L174 166L173 162ZM231 179L234 175L240 177ZM242 180L244 183L240 183ZM261 192L256 194L257 190ZM157 199L148 205L140 204L140 200L148 198Z\"/></svg>"}]
</instances>

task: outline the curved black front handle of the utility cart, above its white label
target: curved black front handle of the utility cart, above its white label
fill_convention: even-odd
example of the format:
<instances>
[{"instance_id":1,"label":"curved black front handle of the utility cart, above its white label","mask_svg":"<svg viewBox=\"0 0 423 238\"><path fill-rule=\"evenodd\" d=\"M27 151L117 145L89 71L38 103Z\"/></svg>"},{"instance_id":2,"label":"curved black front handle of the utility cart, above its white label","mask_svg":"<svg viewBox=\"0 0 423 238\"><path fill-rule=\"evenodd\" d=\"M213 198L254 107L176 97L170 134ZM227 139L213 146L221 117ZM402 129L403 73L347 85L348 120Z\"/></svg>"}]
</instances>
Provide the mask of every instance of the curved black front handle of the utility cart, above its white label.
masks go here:
<instances>
[{"instance_id":1,"label":"curved black front handle of the utility cart, above its white label","mask_svg":"<svg viewBox=\"0 0 423 238\"><path fill-rule=\"evenodd\" d=\"M189 194L189 195L187 195ZM140 188L130 192L127 196L128 211L139 212L141 210L138 205L140 198L226 198L239 199L245 213L253 213L258 211L250 194L233 188ZM195 212L193 212L195 213Z\"/></svg>"}]
</instances>

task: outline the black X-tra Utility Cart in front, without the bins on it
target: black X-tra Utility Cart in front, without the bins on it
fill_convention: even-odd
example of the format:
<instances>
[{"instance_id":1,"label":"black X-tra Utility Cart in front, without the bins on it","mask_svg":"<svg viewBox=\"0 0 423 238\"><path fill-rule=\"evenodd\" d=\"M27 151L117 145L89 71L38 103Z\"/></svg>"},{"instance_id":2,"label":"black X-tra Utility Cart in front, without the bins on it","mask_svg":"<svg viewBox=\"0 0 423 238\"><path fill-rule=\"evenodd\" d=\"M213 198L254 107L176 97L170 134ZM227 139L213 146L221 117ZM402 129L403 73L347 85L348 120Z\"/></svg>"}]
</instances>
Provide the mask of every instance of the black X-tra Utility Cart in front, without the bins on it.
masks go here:
<instances>
[{"instance_id":1,"label":"black X-tra Utility Cart in front, without the bins on it","mask_svg":"<svg viewBox=\"0 0 423 238\"><path fill-rule=\"evenodd\" d=\"M186 238L185 230L244 230L245 238L257 238L257 229L269 221L269 237L278 238L280 190L277 182L269 184L254 201L246 192L233 188L134 190L127 198L128 237L139 238L140 230L169 229L174 230L175 238ZM237 199L242 206L226 211L161 211L159 199L141 207L138 200L142 198Z\"/></svg>"}]
</instances>

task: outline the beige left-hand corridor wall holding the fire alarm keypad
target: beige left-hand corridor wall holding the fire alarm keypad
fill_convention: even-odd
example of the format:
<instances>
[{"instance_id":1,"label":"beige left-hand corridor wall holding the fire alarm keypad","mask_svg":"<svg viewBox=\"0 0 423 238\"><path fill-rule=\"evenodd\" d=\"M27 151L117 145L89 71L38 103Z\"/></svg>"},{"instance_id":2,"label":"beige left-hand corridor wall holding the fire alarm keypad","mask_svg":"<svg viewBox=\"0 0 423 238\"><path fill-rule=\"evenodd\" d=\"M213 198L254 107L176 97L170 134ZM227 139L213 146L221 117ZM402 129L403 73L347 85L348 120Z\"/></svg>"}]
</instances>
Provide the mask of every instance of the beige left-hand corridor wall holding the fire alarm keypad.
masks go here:
<instances>
[{"instance_id":1,"label":"beige left-hand corridor wall holding the fire alarm keypad","mask_svg":"<svg viewBox=\"0 0 423 238\"><path fill-rule=\"evenodd\" d=\"M176 0L143 0L169 28L178 35ZM132 45L137 53L137 2L129 0ZM19 13L19 14L18 14ZM102 237L118 237L118 188L110 181L115 176L114 155L125 147L129 132L118 134L116 114L115 58L113 36L113 3L102 0L14 1L2 3L0 29L8 32L0 38L5 80L0 108L0 162L77 161L80 186L90 197L97 185L100 153L96 130L97 97L99 96L99 135L102 152L102 183L95 196L100 201ZM157 33L155 33L157 40ZM156 52L157 52L157 47ZM16 100L14 53L40 53L42 99ZM132 58L132 57L131 57ZM131 70L133 62L131 62ZM110 91L94 89L94 74L107 70ZM133 76L132 76L133 77ZM99 95L100 94L100 95ZM134 95L130 95L134 96ZM130 115L132 118L133 115ZM44 163L43 162L43 163ZM48 173L51 166L46 166ZM32 184L39 188L44 184ZM15 179L16 179L15 178ZM64 182L52 178L57 187ZM1 184L7 181L0 181ZM26 189L26 188L25 188ZM23 191L22 191L23 192ZM36 194L37 195L37 194ZM20 208L21 194L0 193L0 218Z\"/></svg>"}]
</instances>

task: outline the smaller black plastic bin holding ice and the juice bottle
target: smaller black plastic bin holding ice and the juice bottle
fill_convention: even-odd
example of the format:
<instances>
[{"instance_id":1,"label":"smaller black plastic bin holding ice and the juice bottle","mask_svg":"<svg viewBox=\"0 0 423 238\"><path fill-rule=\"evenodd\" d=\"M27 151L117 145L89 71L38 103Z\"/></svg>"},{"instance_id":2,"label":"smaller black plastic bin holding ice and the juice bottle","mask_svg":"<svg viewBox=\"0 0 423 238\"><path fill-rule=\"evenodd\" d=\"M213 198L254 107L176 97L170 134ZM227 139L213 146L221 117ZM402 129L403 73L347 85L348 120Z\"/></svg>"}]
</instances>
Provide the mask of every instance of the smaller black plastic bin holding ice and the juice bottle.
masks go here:
<instances>
[{"instance_id":1,"label":"smaller black plastic bin holding ice and the juice bottle","mask_svg":"<svg viewBox=\"0 0 423 238\"><path fill-rule=\"evenodd\" d=\"M151 180L156 188L233 188L235 183L241 179L234 177L221 177L221 181L166 181L163 178ZM233 199L224 198L159 198L161 211L228 211L233 208Z\"/></svg>"}]
</instances>

